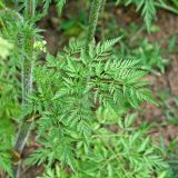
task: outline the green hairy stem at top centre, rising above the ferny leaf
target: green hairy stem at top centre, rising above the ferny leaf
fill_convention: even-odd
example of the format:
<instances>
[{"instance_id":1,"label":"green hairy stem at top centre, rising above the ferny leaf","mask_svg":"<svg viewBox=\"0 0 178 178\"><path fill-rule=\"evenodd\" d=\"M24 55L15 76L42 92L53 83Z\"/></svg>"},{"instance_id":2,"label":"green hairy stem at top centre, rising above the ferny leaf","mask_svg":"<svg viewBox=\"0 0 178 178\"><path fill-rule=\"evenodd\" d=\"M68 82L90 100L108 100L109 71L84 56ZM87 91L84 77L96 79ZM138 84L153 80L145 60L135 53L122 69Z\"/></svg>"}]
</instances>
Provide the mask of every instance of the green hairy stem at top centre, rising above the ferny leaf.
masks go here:
<instances>
[{"instance_id":1,"label":"green hairy stem at top centre, rising above the ferny leaf","mask_svg":"<svg viewBox=\"0 0 178 178\"><path fill-rule=\"evenodd\" d=\"M95 32L96 32L96 27L97 27L101 3L102 3L102 0L92 0L90 17L89 17L89 26L87 31L86 50L88 49L88 46L90 44L90 42L92 42L95 38Z\"/></svg>"}]
</instances>

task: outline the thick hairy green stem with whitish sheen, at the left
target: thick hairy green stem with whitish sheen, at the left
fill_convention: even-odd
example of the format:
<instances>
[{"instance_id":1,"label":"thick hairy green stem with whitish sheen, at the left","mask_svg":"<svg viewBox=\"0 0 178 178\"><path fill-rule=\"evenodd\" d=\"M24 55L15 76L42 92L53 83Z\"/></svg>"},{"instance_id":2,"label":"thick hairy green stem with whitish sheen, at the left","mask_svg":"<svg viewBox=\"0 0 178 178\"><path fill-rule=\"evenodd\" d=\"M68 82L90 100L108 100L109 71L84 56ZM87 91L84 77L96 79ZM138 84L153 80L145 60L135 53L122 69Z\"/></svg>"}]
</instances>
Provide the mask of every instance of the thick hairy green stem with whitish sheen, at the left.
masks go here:
<instances>
[{"instance_id":1,"label":"thick hairy green stem with whitish sheen, at the left","mask_svg":"<svg viewBox=\"0 0 178 178\"><path fill-rule=\"evenodd\" d=\"M34 0L26 1L26 17L27 19L34 16ZM27 105L27 96L32 91L32 71L33 71L33 37L31 34L26 36L24 39L26 57L22 57L22 105ZM14 150L21 157L33 121L28 121L28 116L22 118L21 125L18 131ZM16 162L14 178L19 178L21 172L21 159Z\"/></svg>"}]
</instances>

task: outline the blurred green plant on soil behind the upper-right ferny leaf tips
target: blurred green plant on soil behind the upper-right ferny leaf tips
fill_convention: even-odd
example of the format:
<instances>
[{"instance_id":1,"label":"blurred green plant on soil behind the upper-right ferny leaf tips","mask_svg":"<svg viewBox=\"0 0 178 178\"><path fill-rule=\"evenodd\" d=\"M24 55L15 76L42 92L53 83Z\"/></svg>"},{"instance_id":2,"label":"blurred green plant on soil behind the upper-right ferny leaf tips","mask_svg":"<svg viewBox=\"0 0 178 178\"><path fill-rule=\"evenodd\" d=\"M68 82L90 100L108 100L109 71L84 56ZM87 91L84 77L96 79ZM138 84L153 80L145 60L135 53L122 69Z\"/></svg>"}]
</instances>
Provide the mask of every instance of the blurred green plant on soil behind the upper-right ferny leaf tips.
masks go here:
<instances>
[{"instance_id":1,"label":"blurred green plant on soil behind the upper-right ferny leaf tips","mask_svg":"<svg viewBox=\"0 0 178 178\"><path fill-rule=\"evenodd\" d=\"M125 41L120 41L120 56L131 56L134 59L139 59L138 66L151 75L165 73L166 67L170 62L164 56L171 51L164 51L157 42L151 43L146 38L137 39L137 42L130 42L130 36L127 31L123 31L123 33L126 34ZM113 49L113 52L116 52L116 49Z\"/></svg>"}]
</instances>

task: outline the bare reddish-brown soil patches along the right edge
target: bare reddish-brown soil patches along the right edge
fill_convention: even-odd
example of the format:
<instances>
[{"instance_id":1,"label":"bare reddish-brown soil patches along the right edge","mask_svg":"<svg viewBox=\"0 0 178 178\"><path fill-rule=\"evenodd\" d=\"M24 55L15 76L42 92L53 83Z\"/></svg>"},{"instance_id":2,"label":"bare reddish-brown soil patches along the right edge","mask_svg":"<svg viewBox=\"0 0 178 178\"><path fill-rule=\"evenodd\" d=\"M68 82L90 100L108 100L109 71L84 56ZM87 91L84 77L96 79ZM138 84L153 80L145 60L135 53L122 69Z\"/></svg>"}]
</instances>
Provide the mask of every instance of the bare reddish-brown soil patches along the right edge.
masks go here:
<instances>
[{"instance_id":1,"label":"bare reddish-brown soil patches along the right edge","mask_svg":"<svg viewBox=\"0 0 178 178\"><path fill-rule=\"evenodd\" d=\"M178 16L167 11L159 11L156 24L160 28L160 31L151 33L151 36L149 36L149 40L151 42L159 42L162 49L166 50L170 38L178 33ZM175 96L178 95L178 55L176 52L169 53L166 55L166 58L170 62L166 72L158 76L148 76L148 80L151 83L155 96L158 96L158 93L162 92L165 89L170 90L170 96L167 102L175 108L174 99ZM162 137L166 145L178 138L178 126L161 126L161 122L167 119L165 116L165 108L156 107L150 103L145 103L142 108L145 111L144 118L146 120L158 122L158 127L152 134L154 137ZM175 112L175 119L178 119L177 111Z\"/></svg>"}]
</instances>

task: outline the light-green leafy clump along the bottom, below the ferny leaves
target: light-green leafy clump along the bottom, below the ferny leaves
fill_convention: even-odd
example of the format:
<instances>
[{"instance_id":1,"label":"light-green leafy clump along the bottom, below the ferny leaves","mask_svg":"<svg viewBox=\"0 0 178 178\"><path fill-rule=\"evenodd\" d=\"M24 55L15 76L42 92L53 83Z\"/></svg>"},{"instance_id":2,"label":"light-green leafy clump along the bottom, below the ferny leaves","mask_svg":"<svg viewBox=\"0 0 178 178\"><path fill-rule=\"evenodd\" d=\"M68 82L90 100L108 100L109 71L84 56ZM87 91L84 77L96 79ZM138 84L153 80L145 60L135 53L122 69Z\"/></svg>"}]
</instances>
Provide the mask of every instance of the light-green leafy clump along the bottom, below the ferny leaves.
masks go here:
<instances>
[{"instance_id":1,"label":"light-green leafy clump along the bottom, below the ferny leaves","mask_svg":"<svg viewBox=\"0 0 178 178\"><path fill-rule=\"evenodd\" d=\"M78 166L76 174L71 174L69 169L69 175L66 168L61 168L56 162L55 168L47 166L46 172L40 178L149 178L155 172L154 167L159 177L164 172L161 169L167 166L159 156L152 152L152 150L159 152L158 148L152 146L148 137L145 139L147 128L131 126L135 117L127 117L125 121L123 119L118 120L120 131L116 134L107 128L100 128L98 125L92 127L95 134L91 136L92 140L89 141L90 147L85 148L80 141L76 147L77 151L75 152L77 152L78 159L80 158L80 161L75 162ZM30 161L36 161L34 157L42 158L42 155L36 152Z\"/></svg>"}]
</instances>

